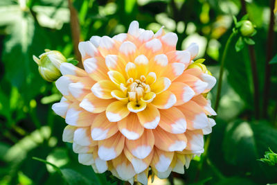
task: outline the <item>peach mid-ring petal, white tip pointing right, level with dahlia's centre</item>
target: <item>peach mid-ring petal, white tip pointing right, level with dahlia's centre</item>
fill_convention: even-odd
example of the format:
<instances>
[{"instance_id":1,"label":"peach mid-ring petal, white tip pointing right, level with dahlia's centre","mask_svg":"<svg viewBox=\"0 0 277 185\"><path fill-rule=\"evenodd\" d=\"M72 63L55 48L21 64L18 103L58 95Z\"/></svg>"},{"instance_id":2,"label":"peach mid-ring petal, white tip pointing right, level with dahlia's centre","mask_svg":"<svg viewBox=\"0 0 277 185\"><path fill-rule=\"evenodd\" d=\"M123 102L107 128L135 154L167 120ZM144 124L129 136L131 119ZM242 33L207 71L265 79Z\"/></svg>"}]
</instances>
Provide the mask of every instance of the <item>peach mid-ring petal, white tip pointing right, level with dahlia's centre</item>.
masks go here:
<instances>
[{"instance_id":1,"label":"peach mid-ring petal, white tip pointing right, level with dahlia's centre","mask_svg":"<svg viewBox=\"0 0 277 185\"><path fill-rule=\"evenodd\" d=\"M195 96L195 91L182 82L172 82L168 90L177 98L175 105L182 105Z\"/></svg>"}]
</instances>

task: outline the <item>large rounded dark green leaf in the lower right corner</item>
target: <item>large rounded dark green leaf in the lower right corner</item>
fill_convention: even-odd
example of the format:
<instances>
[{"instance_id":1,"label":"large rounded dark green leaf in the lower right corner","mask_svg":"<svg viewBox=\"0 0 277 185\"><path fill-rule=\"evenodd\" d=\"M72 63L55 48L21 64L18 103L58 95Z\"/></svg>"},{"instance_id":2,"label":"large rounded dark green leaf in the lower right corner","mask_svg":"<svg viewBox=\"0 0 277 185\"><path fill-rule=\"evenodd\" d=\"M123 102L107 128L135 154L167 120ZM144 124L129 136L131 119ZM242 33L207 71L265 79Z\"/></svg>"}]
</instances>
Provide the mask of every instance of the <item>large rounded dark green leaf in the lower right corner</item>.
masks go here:
<instances>
[{"instance_id":1,"label":"large rounded dark green leaf in the lower right corner","mask_svg":"<svg viewBox=\"0 0 277 185\"><path fill-rule=\"evenodd\" d=\"M277 166L267 166L260 159L268 147L277 150L277 130L266 121L235 121L226 127L222 143L224 158L240 173L249 173L257 182L276 179Z\"/></svg>"}]
</instances>

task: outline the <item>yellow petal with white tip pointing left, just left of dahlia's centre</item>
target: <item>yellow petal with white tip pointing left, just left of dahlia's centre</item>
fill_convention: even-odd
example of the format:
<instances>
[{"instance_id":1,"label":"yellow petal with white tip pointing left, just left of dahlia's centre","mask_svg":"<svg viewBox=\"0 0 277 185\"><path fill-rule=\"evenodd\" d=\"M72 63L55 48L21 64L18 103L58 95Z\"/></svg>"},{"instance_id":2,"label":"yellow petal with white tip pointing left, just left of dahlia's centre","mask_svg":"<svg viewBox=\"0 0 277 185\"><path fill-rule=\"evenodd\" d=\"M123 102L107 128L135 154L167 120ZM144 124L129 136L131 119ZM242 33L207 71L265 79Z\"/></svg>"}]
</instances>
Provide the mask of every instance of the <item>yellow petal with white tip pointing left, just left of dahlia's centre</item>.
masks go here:
<instances>
[{"instance_id":1,"label":"yellow petal with white tip pointing left, just left of dahlia's centre","mask_svg":"<svg viewBox=\"0 0 277 185\"><path fill-rule=\"evenodd\" d=\"M111 91L117 89L116 85L111 80L101 80L91 87L91 91L95 96L102 99L111 99Z\"/></svg>"}]
</instances>

